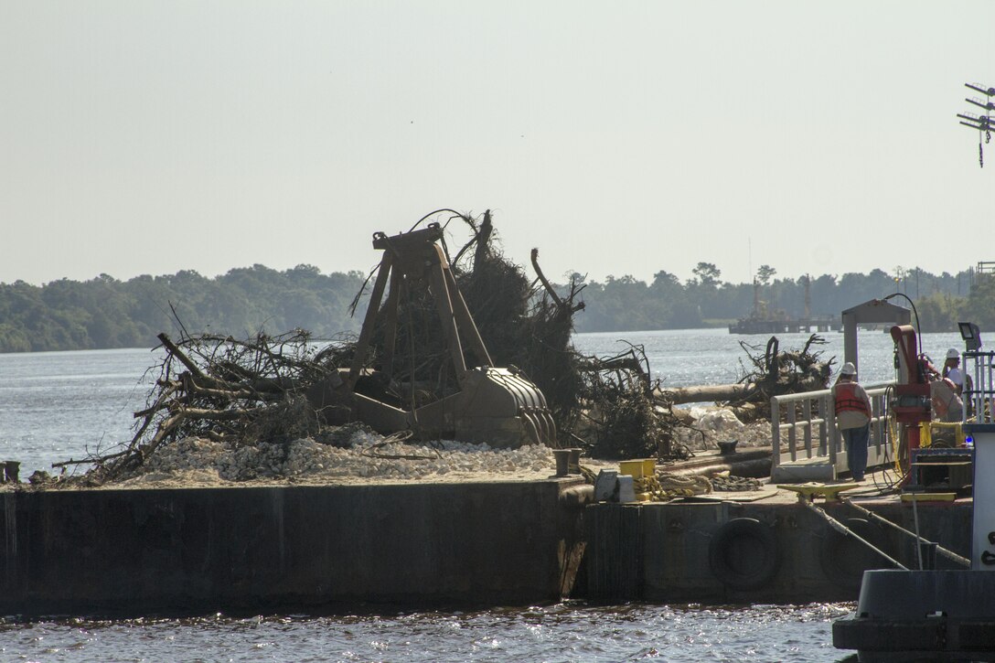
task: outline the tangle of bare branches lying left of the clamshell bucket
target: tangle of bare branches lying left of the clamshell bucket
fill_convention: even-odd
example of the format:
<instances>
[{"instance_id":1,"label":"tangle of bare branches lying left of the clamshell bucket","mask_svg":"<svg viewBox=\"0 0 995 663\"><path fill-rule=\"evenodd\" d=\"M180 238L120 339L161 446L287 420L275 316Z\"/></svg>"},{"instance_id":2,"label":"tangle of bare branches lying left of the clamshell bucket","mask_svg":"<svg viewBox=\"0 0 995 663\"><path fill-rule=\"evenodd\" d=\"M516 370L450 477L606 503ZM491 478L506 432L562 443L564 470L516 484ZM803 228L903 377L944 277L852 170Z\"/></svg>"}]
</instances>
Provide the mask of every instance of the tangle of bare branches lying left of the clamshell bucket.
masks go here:
<instances>
[{"instance_id":1,"label":"tangle of bare branches lying left of the clamshell bucket","mask_svg":"<svg viewBox=\"0 0 995 663\"><path fill-rule=\"evenodd\" d=\"M134 413L130 442L112 453L57 463L91 463L88 483L118 479L140 468L164 444L188 437L224 442L233 449L259 442L287 443L317 435L332 412L316 409L314 391L338 382L333 352L307 331L259 333L239 340L216 334L173 341L159 334L164 358L146 407Z\"/></svg>"}]
</instances>

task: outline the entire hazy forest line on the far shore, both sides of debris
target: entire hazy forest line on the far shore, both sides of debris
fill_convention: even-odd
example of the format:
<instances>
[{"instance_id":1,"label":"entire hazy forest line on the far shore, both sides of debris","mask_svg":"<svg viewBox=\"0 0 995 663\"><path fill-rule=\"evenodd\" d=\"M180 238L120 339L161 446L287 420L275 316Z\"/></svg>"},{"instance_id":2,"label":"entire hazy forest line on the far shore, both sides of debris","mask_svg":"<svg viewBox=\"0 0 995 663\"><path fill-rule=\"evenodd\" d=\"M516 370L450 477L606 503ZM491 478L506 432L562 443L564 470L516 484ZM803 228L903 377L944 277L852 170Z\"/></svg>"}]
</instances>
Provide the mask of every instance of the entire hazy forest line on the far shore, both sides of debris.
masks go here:
<instances>
[{"instance_id":1,"label":"entire hazy forest line on the far shore, both sides of debris","mask_svg":"<svg viewBox=\"0 0 995 663\"><path fill-rule=\"evenodd\" d=\"M599 283L575 274L586 305L575 317L576 329L694 329L753 311L801 317L806 281L812 316L838 318L844 309L897 291L914 301L922 331L954 331L958 318L995 327L995 279L974 271L936 276L918 269L891 275L874 270L809 280L778 279L763 265L754 284L730 284L714 265L698 263L694 275L685 282L659 272L652 283L631 276ZM335 337L358 331L364 304L355 317L348 308L364 279L359 272L325 275L307 265L284 272L255 265L215 278L182 271L128 281L100 275L44 286L0 284L0 352L151 347L158 332L175 334L177 321L190 333L248 337L299 328L316 338ZM907 306L903 299L896 304Z\"/></svg>"}]
</instances>

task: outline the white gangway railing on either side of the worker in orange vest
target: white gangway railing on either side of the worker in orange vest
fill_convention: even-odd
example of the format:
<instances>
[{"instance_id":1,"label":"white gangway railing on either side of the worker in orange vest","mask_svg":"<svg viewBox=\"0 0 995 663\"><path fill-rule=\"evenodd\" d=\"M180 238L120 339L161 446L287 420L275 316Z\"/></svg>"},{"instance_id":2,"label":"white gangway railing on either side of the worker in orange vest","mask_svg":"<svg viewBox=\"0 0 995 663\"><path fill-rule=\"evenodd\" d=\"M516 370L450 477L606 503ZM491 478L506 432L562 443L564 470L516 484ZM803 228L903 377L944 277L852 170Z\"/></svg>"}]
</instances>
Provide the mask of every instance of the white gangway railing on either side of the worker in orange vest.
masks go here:
<instances>
[{"instance_id":1,"label":"white gangway railing on either side of the worker in orange vest","mask_svg":"<svg viewBox=\"0 0 995 663\"><path fill-rule=\"evenodd\" d=\"M890 464L895 458L886 417L885 394L889 386L880 384L867 389L873 414L868 467ZM782 413L784 421L781 421ZM782 463L809 459L824 459L833 466L834 476L847 471L847 450L836 428L832 389L771 396L770 437L771 474Z\"/></svg>"}]
</instances>

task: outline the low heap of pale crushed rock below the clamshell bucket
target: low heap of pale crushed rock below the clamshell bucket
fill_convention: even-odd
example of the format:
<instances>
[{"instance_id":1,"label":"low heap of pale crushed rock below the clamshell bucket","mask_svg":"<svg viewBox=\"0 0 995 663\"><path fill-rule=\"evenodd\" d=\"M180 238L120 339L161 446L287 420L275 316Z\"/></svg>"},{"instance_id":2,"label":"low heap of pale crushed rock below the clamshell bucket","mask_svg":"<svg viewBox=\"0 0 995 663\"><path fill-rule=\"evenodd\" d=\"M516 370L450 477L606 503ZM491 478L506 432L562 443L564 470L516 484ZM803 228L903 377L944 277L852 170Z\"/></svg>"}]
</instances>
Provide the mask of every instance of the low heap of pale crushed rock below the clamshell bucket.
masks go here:
<instances>
[{"instance_id":1,"label":"low heap of pale crushed rock below the clamshell bucket","mask_svg":"<svg viewBox=\"0 0 995 663\"><path fill-rule=\"evenodd\" d=\"M543 472L554 468L552 452L540 445L494 449L487 444L437 441L414 444L356 430L341 446L298 439L232 449L222 442L186 438L156 450L140 475L209 471L225 481L269 478L423 479L459 474ZM138 475L132 475L134 478Z\"/></svg>"}]
</instances>

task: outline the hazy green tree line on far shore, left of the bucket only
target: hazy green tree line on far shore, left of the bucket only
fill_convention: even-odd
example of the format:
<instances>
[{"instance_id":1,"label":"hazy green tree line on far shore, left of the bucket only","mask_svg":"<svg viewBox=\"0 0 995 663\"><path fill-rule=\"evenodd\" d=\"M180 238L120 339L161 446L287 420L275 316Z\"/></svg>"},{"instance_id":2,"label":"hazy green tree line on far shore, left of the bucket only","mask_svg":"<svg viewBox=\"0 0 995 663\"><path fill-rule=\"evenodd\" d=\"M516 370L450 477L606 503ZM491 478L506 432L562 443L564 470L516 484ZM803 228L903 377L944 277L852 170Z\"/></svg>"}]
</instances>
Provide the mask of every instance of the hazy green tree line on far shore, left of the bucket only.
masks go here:
<instances>
[{"instance_id":1,"label":"hazy green tree line on far shore, left of the bucket only","mask_svg":"<svg viewBox=\"0 0 995 663\"><path fill-rule=\"evenodd\" d=\"M176 318L190 333L300 328L330 337L358 328L347 308L363 279L309 265L286 272L254 265L214 279L182 271L124 282L101 274L82 283L0 284L0 352L149 347L160 331L176 330Z\"/></svg>"}]
</instances>

